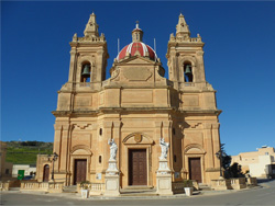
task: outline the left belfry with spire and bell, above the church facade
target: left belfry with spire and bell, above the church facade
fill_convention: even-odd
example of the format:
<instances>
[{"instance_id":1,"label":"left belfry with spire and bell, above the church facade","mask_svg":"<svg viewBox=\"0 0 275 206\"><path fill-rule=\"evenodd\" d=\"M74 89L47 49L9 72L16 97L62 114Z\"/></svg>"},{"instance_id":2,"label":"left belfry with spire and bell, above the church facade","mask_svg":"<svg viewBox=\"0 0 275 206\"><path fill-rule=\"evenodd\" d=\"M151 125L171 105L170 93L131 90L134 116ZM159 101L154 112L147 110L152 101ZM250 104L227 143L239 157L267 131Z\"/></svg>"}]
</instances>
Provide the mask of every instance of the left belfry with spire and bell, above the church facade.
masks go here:
<instances>
[{"instance_id":1,"label":"left belfry with spire and bell, above the church facade","mask_svg":"<svg viewBox=\"0 0 275 206\"><path fill-rule=\"evenodd\" d=\"M106 79L107 42L105 35L99 36L96 14L90 14L84 31L84 37L74 35L70 42L70 66L68 83L76 90L100 90Z\"/></svg>"}]
</instances>

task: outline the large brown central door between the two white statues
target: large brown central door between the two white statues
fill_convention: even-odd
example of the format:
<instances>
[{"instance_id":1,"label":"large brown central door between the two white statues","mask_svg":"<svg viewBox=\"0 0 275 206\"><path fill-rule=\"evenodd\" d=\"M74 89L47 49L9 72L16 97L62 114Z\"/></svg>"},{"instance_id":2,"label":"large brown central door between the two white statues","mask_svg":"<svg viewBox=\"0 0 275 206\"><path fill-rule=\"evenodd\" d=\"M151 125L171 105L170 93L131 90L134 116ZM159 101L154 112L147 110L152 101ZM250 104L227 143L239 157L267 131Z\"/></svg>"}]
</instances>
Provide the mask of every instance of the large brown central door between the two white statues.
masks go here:
<instances>
[{"instance_id":1,"label":"large brown central door between the two white statues","mask_svg":"<svg viewBox=\"0 0 275 206\"><path fill-rule=\"evenodd\" d=\"M146 149L129 150L129 185L147 185Z\"/></svg>"}]
</instances>

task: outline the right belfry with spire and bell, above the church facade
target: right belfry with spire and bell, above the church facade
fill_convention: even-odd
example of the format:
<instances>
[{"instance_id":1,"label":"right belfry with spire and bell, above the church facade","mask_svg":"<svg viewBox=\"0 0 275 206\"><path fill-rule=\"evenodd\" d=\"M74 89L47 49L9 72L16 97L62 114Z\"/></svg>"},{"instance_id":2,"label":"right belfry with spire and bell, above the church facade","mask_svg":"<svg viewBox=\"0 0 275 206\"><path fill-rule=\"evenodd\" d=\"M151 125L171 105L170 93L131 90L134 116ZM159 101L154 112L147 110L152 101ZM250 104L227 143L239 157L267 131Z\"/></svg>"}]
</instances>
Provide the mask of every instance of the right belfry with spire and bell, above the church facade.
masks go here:
<instances>
[{"instance_id":1,"label":"right belfry with spire and bell, above the church facade","mask_svg":"<svg viewBox=\"0 0 275 206\"><path fill-rule=\"evenodd\" d=\"M197 88L206 85L204 45L199 34L197 37L190 37L189 27L180 13L176 25L176 36L170 34L166 55L169 80L174 82L175 89L184 90L190 85Z\"/></svg>"}]
</instances>

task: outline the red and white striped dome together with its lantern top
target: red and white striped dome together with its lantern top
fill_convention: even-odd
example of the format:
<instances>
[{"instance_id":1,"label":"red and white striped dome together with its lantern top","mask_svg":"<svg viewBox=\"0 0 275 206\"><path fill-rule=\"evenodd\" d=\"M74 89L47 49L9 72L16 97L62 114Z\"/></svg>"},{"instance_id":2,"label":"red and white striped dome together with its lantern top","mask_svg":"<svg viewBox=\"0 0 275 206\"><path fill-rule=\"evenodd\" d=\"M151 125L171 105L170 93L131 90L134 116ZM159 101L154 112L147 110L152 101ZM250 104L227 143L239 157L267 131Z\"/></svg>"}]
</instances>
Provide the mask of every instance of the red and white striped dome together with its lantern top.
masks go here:
<instances>
[{"instance_id":1,"label":"red and white striped dome together with its lantern top","mask_svg":"<svg viewBox=\"0 0 275 206\"><path fill-rule=\"evenodd\" d=\"M136 22L135 28L132 31L132 43L124 46L117 56L117 60L120 61L125 57L141 56L157 61L156 53L153 48L142 42L143 31L139 27Z\"/></svg>"}]
</instances>

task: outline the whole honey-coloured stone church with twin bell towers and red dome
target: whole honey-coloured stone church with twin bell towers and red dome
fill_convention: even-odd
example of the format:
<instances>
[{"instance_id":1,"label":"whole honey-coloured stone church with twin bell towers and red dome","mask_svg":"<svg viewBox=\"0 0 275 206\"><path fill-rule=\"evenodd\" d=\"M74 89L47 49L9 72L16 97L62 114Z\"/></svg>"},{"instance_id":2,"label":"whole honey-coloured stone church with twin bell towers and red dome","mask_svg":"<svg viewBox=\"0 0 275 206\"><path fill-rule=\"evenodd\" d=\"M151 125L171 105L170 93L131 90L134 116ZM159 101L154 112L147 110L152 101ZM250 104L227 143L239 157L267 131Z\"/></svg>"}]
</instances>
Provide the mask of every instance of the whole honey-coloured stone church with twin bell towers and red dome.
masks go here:
<instances>
[{"instance_id":1,"label":"whole honey-coloured stone church with twin bell towers and red dome","mask_svg":"<svg viewBox=\"0 0 275 206\"><path fill-rule=\"evenodd\" d=\"M169 145L172 182L209 184L220 175L219 114L216 90L206 81L204 43L190 36L183 14L167 46L168 79L156 52L143 43L136 23L132 42L114 58L106 79L107 41L95 13L84 36L69 43L68 81L58 91L54 149L37 158L38 182L65 185L105 183L110 140L117 145L119 186L156 186L160 139ZM172 31L173 32L173 31ZM64 73L66 75L66 73Z\"/></svg>"}]
</instances>

